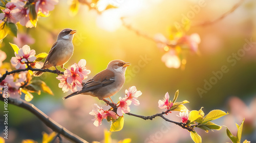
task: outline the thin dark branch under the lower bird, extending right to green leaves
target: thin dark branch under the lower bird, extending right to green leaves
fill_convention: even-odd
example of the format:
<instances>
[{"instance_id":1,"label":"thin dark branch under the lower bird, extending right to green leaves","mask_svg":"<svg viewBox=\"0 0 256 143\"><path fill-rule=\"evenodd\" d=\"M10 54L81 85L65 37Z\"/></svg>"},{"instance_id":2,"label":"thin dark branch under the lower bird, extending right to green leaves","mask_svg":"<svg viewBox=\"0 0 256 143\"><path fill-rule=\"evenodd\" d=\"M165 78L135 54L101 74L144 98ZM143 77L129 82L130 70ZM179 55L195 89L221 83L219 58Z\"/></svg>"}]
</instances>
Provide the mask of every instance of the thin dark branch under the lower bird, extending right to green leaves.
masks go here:
<instances>
[{"instance_id":1,"label":"thin dark branch under the lower bird, extending right to green leaves","mask_svg":"<svg viewBox=\"0 0 256 143\"><path fill-rule=\"evenodd\" d=\"M105 100L105 99L102 99L102 101L104 101L106 104L110 105L113 108L113 111L116 112L116 110L117 110L116 104L111 103L111 102L109 102L108 100ZM168 118L164 117L163 115L167 114L169 111L170 111L170 109L165 111L165 112L157 113L157 114L154 114L154 115L151 115L151 116L143 116L143 115L137 115L137 114L133 114L133 113L125 113L125 114L131 115L131 116L136 116L136 117L142 118L143 120L153 120L153 118L159 116L159 117L163 118L165 121L170 122L170 123L174 123L174 124L182 127L183 129L186 129L188 131L194 131L193 126L189 127L186 124L183 124L181 122L175 122L175 121L169 120Z\"/></svg>"}]
</instances>

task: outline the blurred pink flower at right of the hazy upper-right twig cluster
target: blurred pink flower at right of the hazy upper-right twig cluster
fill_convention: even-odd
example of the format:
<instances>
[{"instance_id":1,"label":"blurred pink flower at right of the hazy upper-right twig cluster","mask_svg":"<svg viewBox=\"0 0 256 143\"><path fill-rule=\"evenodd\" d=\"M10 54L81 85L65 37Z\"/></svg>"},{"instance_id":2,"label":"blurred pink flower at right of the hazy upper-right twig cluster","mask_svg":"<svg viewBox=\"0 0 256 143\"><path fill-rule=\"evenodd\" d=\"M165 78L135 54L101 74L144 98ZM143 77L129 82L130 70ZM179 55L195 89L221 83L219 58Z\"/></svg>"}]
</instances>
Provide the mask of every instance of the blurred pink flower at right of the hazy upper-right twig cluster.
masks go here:
<instances>
[{"instance_id":1,"label":"blurred pink flower at right of the hazy upper-right twig cluster","mask_svg":"<svg viewBox=\"0 0 256 143\"><path fill-rule=\"evenodd\" d=\"M189 48L193 52L198 51L198 44L201 42L200 36L197 33L191 34L190 36L183 36L178 40L178 43L188 44Z\"/></svg>"}]
</instances>

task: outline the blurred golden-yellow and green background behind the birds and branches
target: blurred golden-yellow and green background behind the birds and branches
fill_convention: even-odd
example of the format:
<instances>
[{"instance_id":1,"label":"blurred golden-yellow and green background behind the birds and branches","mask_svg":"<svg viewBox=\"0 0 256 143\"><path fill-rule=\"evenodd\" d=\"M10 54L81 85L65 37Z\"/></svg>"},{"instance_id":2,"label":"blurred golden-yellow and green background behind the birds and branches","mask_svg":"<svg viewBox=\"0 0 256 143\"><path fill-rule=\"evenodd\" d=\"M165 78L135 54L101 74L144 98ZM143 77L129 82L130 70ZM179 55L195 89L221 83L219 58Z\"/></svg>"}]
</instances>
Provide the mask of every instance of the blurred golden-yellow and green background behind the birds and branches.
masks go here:
<instances>
[{"instance_id":1,"label":"blurred golden-yellow and green background behind the birds and branches","mask_svg":"<svg viewBox=\"0 0 256 143\"><path fill-rule=\"evenodd\" d=\"M197 13L194 12L195 15L191 16L192 26L186 33L197 33L200 36L199 54L187 52L186 64L180 68L166 67L161 60L165 51L159 49L153 40L124 27L120 17L124 16L127 24L151 37L161 33L168 38L170 28L177 22L182 25L184 16L193 10L195 5L202 3L201 1L111 2L118 4L118 8L105 10L100 14L96 10L90 10L88 6L80 5L78 13L72 15L69 12L70 1L59 1L49 17L39 18L36 28L19 26L19 34L32 38L20 43L19 47L28 44L36 54L48 53L62 29L77 30L73 39L74 54L65 67L78 63L80 59L86 59L87 68L91 70L88 77L90 79L105 69L111 60L121 59L132 63L126 70L123 88L112 97L114 102L118 102L119 97L124 97L125 89L136 86L142 96L138 98L140 105L132 105L131 112L152 115L164 111L158 108L158 100L162 99L166 92L172 100L175 91L179 89L177 101L188 100L190 103L186 104L186 107L189 110L204 107L205 113L213 109L229 112L214 123L227 126L234 135L237 133L235 123L240 125L245 118L241 141L247 139L256 142L255 1L244 1L235 11L215 23L193 27L198 23L217 19L240 2L203 1L204 7L200 7ZM110 1L102 0L102 5L103 3ZM248 41L251 41L250 44ZM20 41L10 35L3 40L1 50L7 54L4 62L10 62L11 57L15 56L9 42L19 44L17 42ZM244 47L248 50L244 50ZM226 67L224 73L221 72L223 66ZM221 78L216 77L214 73L220 72ZM47 93L41 93L40 96L33 94L31 103L83 139L89 142L103 140L103 130L109 130L110 123L103 120L101 126L95 127L92 121L94 117L89 112L95 109L94 103L104 109L108 107L104 106L104 102L90 96L79 95L63 101L62 97L67 96L70 91L63 93L58 87L59 81L56 77L55 74L45 73L43 77L34 78L45 81L54 96ZM207 83L210 83L209 88L206 87L209 86ZM204 92L199 92L201 89ZM21 98L24 99L24 96ZM3 102L0 102L0 106L4 106ZM21 142L22 139L40 142L42 131L52 132L25 109L9 104L9 111L9 139L6 142ZM178 112L170 113L166 117L180 122L176 114ZM132 142L193 142L188 131L165 123L162 118L155 118L153 121L144 121L129 115L124 115L124 118L123 130L113 132L113 140L131 138ZM163 132L162 128L167 131ZM209 133L197 131L203 142L230 142L225 127ZM64 137L62 139L63 142L69 142Z\"/></svg>"}]
</instances>

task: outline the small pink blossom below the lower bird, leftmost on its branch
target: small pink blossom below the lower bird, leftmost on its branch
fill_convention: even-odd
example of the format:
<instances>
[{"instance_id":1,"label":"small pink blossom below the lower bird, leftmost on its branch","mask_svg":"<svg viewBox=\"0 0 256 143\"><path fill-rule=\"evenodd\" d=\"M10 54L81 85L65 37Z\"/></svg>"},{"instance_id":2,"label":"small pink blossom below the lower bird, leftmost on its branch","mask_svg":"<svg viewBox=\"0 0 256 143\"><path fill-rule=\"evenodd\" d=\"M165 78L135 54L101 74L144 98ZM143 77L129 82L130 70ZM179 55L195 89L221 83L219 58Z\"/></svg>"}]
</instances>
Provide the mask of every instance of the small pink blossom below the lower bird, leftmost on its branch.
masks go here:
<instances>
[{"instance_id":1,"label":"small pink blossom below the lower bird, leftmost on its branch","mask_svg":"<svg viewBox=\"0 0 256 143\"><path fill-rule=\"evenodd\" d=\"M102 123L104 110L101 107L99 107L99 105L97 104L94 104L94 105L97 107L97 111L92 110L89 114L95 116L95 118L92 120L94 121L93 125L98 127Z\"/></svg>"}]
</instances>

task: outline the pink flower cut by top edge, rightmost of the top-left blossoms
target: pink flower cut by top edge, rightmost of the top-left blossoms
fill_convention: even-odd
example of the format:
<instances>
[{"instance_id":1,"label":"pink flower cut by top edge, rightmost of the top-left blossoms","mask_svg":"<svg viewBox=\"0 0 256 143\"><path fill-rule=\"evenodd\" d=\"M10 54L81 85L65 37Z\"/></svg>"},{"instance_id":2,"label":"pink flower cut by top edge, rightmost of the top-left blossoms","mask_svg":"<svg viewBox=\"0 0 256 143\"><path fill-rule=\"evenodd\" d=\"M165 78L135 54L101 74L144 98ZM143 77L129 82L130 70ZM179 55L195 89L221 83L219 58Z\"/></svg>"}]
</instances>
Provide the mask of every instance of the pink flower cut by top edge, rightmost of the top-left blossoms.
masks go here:
<instances>
[{"instance_id":1,"label":"pink flower cut by top edge, rightmost of the top-left blossoms","mask_svg":"<svg viewBox=\"0 0 256 143\"><path fill-rule=\"evenodd\" d=\"M48 15L49 11L54 9L54 5L58 3L57 0L38 0L35 3L36 12L41 11L42 14Z\"/></svg>"}]
</instances>

